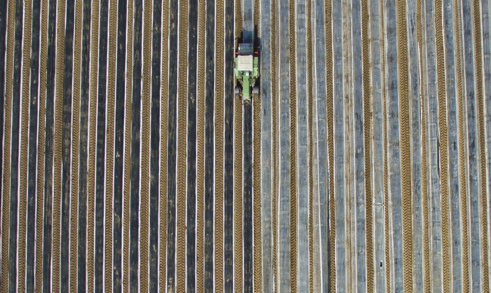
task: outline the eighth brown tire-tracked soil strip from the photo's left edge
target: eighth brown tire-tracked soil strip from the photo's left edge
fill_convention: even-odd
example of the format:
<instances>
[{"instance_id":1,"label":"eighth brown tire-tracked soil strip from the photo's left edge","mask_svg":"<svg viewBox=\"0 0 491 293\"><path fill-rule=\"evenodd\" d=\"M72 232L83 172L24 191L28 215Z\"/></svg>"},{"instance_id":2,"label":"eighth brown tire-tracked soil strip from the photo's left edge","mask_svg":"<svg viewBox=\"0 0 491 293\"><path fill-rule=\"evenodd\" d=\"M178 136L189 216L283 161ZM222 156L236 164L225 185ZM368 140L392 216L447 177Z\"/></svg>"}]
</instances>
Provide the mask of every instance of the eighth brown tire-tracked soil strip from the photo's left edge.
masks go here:
<instances>
[{"instance_id":1,"label":"eighth brown tire-tracked soil strip from the photo's left edge","mask_svg":"<svg viewBox=\"0 0 491 293\"><path fill-rule=\"evenodd\" d=\"M129 292L129 220L131 197L131 121L133 80L133 5L127 5L126 92L124 95L123 292ZM167 133L167 132L165 132ZM164 233L163 233L164 234ZM164 262L165 263L165 262ZM164 265L165 267L165 265Z\"/></svg>"}]
</instances>

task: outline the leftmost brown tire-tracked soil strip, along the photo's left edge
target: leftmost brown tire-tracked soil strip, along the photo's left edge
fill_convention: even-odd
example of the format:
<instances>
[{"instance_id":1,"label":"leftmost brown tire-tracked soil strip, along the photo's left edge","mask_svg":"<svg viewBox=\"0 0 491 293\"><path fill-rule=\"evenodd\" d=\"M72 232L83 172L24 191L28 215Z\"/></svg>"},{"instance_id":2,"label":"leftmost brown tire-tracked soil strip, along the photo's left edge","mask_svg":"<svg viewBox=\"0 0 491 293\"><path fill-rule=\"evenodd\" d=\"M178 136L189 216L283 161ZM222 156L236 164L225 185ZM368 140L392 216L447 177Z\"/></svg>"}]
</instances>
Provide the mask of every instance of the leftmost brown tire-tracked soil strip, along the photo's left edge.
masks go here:
<instances>
[{"instance_id":1,"label":"leftmost brown tire-tracked soil strip, along the photo's left edge","mask_svg":"<svg viewBox=\"0 0 491 293\"><path fill-rule=\"evenodd\" d=\"M14 1L8 2L7 23L14 21ZM5 96L3 121L11 121L12 110L12 70L13 70L13 25L7 25L6 35L6 59L5 59ZM10 141L11 124L5 123L3 136L3 184L2 184L2 230L1 230L1 291L8 292L8 229L9 223L9 199L10 199ZM46 223L46 222L45 222ZM7 277L6 277L7 276Z\"/></svg>"}]
</instances>

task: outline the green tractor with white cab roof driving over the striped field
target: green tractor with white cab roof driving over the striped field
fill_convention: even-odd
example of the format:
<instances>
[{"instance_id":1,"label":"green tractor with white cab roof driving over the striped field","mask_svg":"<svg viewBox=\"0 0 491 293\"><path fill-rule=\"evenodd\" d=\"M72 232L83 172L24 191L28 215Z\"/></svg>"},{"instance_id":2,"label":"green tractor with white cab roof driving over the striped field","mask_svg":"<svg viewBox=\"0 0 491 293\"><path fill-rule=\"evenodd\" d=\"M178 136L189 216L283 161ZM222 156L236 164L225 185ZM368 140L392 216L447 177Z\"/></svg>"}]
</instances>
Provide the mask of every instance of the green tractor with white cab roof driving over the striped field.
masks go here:
<instances>
[{"instance_id":1,"label":"green tractor with white cab roof driving over the striped field","mask_svg":"<svg viewBox=\"0 0 491 293\"><path fill-rule=\"evenodd\" d=\"M242 96L244 102L250 102L251 94L259 93L259 86L255 84L259 77L259 57L252 44L239 44L235 52L234 72L237 79L234 93Z\"/></svg>"}]
</instances>

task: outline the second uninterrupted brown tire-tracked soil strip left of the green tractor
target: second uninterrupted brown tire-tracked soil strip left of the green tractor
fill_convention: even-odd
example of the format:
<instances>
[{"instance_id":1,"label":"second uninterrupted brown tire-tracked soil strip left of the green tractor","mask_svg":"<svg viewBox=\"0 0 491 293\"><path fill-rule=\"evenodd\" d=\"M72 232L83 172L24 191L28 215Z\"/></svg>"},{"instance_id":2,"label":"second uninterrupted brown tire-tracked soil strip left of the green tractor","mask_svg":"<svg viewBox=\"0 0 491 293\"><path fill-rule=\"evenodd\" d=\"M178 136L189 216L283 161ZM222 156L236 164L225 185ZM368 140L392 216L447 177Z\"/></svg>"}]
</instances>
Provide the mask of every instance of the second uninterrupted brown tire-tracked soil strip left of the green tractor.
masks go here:
<instances>
[{"instance_id":1,"label":"second uninterrupted brown tire-tracked soil strip left of the green tractor","mask_svg":"<svg viewBox=\"0 0 491 293\"><path fill-rule=\"evenodd\" d=\"M196 292L204 292L204 125L205 125L205 1L198 2L198 96L196 178Z\"/></svg>"}]
</instances>

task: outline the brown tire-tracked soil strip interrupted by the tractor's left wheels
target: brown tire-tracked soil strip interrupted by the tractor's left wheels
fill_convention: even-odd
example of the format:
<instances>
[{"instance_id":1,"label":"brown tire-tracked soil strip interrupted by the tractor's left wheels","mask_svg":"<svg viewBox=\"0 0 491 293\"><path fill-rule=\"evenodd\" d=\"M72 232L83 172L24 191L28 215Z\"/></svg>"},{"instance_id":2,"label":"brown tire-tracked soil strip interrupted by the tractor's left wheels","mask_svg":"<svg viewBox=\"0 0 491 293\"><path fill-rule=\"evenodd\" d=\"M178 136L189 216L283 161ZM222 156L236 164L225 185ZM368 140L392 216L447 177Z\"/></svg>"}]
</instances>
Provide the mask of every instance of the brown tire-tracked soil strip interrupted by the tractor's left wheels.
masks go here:
<instances>
[{"instance_id":1,"label":"brown tire-tracked soil strip interrupted by the tractor's left wheels","mask_svg":"<svg viewBox=\"0 0 491 293\"><path fill-rule=\"evenodd\" d=\"M237 48L238 46L238 40L242 35L242 10L241 10L241 2L242 0L236 0L235 1L235 47ZM235 84L235 83L234 83ZM242 268L242 262L243 262L243 238L242 238L242 200L243 200L243 193L242 193L242 175L243 175L243 169L242 169L242 150L243 150L243 144L242 144L242 120L243 120L243 113L242 113L242 100L234 95L234 111L235 111L235 142L234 142L234 147L235 147L235 158L234 158L234 197L235 197L235 203L234 203L234 272L235 272L235 292L240 293L243 292L243 287L242 287L242 276L243 276L243 268Z\"/></svg>"}]
</instances>

